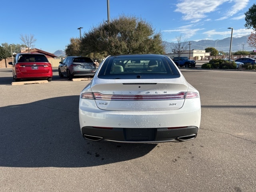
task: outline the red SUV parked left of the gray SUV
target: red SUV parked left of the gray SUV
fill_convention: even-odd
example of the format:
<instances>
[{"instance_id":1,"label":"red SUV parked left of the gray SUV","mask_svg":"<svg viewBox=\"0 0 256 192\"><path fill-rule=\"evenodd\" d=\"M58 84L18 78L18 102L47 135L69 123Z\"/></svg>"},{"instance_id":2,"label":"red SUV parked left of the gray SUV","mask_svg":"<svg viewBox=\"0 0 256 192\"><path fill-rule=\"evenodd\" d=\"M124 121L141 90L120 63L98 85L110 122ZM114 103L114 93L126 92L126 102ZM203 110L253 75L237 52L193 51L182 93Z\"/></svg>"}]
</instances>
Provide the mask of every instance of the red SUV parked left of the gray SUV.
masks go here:
<instances>
[{"instance_id":1,"label":"red SUV parked left of the gray SUV","mask_svg":"<svg viewBox=\"0 0 256 192\"><path fill-rule=\"evenodd\" d=\"M44 54L18 53L12 65L12 76L14 80L21 79L47 79L52 80L52 65Z\"/></svg>"}]
</instances>

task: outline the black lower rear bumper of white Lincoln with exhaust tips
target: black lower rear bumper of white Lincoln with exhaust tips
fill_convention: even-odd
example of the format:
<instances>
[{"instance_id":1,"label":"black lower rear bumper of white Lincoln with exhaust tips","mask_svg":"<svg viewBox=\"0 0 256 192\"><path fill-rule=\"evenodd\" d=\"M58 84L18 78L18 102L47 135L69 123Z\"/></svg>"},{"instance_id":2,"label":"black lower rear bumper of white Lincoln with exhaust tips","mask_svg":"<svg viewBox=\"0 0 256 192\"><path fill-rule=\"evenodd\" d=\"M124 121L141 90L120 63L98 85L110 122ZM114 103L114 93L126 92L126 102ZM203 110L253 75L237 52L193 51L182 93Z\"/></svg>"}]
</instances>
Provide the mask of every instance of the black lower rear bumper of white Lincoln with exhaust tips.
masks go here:
<instances>
[{"instance_id":1,"label":"black lower rear bumper of white Lincoln with exhaust tips","mask_svg":"<svg viewBox=\"0 0 256 192\"><path fill-rule=\"evenodd\" d=\"M93 141L112 141L126 143L180 142L196 138L198 127L185 128L96 128L83 127L84 138Z\"/></svg>"}]
</instances>

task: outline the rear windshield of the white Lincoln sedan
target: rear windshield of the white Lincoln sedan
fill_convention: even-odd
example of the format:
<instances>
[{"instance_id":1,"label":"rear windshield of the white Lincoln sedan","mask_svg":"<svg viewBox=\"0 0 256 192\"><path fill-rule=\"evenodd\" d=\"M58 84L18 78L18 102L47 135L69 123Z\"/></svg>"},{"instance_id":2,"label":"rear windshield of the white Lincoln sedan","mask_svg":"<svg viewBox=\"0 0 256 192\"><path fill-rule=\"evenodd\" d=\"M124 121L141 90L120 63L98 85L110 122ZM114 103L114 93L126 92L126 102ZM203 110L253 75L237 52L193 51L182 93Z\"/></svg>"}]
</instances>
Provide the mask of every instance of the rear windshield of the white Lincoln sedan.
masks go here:
<instances>
[{"instance_id":1,"label":"rear windshield of the white Lincoln sedan","mask_svg":"<svg viewBox=\"0 0 256 192\"><path fill-rule=\"evenodd\" d=\"M178 74L178 71L172 62L168 63L164 57L111 57L109 60L104 62L104 66L100 69L98 76L100 78L106 78L104 76L119 76L122 78L128 78L128 74L148 74L158 75L158 78L164 78L164 76ZM120 76L123 75L123 76ZM147 75L147 76L148 76ZM154 76L156 78L156 76Z\"/></svg>"}]
</instances>

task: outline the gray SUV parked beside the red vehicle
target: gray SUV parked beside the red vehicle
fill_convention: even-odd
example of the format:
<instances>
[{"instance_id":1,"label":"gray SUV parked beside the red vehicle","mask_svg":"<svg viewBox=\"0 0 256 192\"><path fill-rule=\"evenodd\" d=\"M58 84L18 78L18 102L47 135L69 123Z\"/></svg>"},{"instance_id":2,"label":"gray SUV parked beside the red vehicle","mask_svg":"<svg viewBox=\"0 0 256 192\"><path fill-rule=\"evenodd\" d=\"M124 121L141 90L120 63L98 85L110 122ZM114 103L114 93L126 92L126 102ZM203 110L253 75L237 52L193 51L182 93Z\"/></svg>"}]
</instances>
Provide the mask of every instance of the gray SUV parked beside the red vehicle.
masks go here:
<instances>
[{"instance_id":1,"label":"gray SUV parked beside the red vehicle","mask_svg":"<svg viewBox=\"0 0 256 192\"><path fill-rule=\"evenodd\" d=\"M58 67L59 76L68 76L71 80L74 76L91 76L96 72L96 65L89 57L68 56Z\"/></svg>"}]
</instances>

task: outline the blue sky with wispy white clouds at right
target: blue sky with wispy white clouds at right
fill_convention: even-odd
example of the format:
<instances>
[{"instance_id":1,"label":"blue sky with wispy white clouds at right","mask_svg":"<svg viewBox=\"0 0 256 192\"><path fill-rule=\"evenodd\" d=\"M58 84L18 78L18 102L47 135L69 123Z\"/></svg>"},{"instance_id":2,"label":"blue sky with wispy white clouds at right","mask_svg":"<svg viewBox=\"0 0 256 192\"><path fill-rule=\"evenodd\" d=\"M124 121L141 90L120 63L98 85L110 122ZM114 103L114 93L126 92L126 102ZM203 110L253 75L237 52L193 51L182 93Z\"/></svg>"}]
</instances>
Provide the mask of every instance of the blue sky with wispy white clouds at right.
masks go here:
<instances>
[{"instance_id":1,"label":"blue sky with wispy white clouds at right","mask_svg":"<svg viewBox=\"0 0 256 192\"><path fill-rule=\"evenodd\" d=\"M167 42L220 40L249 35L244 13L252 0L109 0L110 20L121 14L145 19ZM65 50L70 38L108 19L107 0L4 0L0 10L0 44L22 44L33 34L35 48Z\"/></svg>"}]
</instances>

